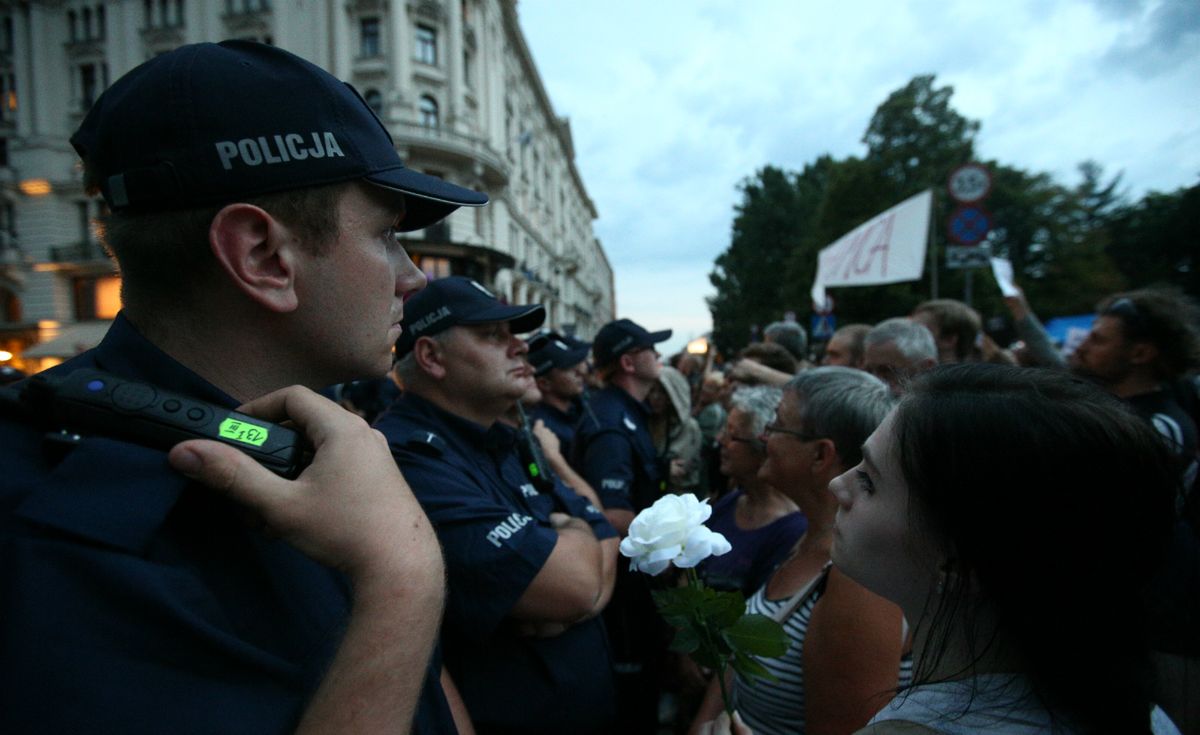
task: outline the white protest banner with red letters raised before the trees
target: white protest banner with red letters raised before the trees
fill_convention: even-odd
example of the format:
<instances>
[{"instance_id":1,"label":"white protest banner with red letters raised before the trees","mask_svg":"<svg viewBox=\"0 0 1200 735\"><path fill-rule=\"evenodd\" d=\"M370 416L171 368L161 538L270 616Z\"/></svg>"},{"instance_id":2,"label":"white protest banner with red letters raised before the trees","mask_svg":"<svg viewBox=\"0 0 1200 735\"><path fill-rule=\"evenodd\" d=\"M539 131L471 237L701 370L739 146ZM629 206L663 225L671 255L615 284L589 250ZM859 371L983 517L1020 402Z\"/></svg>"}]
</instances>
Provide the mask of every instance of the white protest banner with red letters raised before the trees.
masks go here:
<instances>
[{"instance_id":1,"label":"white protest banner with red letters raised before the trees","mask_svg":"<svg viewBox=\"0 0 1200 735\"><path fill-rule=\"evenodd\" d=\"M812 304L827 304L829 286L876 286L917 281L925 270L925 244L934 192L926 190L875 215L817 256Z\"/></svg>"}]
</instances>

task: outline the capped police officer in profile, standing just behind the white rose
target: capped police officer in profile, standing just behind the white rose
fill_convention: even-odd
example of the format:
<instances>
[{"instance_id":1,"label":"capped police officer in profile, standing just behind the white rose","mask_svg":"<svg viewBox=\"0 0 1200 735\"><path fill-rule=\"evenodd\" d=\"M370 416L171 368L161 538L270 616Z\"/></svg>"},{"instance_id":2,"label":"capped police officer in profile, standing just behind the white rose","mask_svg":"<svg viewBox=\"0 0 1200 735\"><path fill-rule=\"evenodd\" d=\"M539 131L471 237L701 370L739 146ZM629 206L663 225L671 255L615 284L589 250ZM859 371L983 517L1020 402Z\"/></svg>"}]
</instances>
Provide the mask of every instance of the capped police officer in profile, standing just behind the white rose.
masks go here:
<instances>
[{"instance_id":1,"label":"capped police officer in profile, standing just behind the white rose","mask_svg":"<svg viewBox=\"0 0 1200 735\"><path fill-rule=\"evenodd\" d=\"M575 466L600 496L605 514L620 533L634 514L662 491L654 441L643 402L659 377L655 345L671 330L647 331L630 319L600 328L592 345L595 371L605 387L590 394L593 413L580 419ZM656 725L661 622L646 575L618 564L612 604L605 614L618 670L619 731L653 733Z\"/></svg>"}]
</instances>

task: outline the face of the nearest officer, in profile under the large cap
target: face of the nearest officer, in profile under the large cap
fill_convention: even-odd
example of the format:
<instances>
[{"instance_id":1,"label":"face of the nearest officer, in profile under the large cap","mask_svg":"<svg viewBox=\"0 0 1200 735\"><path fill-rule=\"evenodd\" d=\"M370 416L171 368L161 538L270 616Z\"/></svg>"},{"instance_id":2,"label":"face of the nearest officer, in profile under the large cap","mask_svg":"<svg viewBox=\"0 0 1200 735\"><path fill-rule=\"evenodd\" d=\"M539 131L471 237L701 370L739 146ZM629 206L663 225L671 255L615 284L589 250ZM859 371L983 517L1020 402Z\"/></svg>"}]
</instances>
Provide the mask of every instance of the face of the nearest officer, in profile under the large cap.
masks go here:
<instances>
[{"instance_id":1,"label":"face of the nearest officer, in profile under the large cap","mask_svg":"<svg viewBox=\"0 0 1200 735\"><path fill-rule=\"evenodd\" d=\"M355 184L338 201L338 234L323 253L301 251L296 293L305 345L328 383L377 377L391 365L404 298L425 287L396 240L400 195Z\"/></svg>"}]
</instances>

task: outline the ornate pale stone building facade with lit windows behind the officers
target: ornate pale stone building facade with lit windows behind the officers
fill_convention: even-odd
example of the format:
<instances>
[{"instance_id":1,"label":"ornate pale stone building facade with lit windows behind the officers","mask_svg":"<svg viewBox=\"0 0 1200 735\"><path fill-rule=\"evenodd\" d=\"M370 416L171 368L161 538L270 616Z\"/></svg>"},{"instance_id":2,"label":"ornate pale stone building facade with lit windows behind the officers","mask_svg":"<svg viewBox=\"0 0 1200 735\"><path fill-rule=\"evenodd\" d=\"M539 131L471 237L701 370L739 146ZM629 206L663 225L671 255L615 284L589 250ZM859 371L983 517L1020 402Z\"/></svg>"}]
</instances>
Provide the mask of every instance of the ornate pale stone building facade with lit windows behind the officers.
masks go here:
<instances>
[{"instance_id":1,"label":"ornate pale stone building facade with lit windows behind the officers","mask_svg":"<svg viewBox=\"0 0 1200 735\"><path fill-rule=\"evenodd\" d=\"M469 275L589 337L613 318L612 268L517 22L515 0L0 2L0 364L90 346L120 307L68 138L107 85L182 43L274 43L352 83L406 166L487 192L406 240L431 277ZM214 104L220 104L214 100ZM5 357L10 355L10 357Z\"/></svg>"}]
</instances>

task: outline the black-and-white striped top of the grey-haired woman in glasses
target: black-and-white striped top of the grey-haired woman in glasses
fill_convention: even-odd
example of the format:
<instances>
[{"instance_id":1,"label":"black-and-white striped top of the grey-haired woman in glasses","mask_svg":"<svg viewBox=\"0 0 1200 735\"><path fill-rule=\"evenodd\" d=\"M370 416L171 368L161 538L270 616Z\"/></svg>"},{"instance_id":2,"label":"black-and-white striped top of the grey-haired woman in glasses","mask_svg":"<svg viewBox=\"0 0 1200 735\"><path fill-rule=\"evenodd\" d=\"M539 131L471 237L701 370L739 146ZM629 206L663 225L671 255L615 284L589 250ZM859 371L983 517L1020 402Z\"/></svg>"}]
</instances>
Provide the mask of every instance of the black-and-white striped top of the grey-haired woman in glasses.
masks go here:
<instances>
[{"instance_id":1,"label":"black-and-white striped top of the grey-haired woman in glasses","mask_svg":"<svg viewBox=\"0 0 1200 735\"><path fill-rule=\"evenodd\" d=\"M787 633L787 652L780 658L754 657L778 681L746 680L740 674L733 676L733 706L755 735L804 735L804 637L812 619L812 608L824 593L828 568L822 574L808 599L782 623ZM763 585L746 600L746 612L776 620L794 602L794 596L767 599L767 586ZM912 657L908 655L900 659L899 680L901 686L912 681Z\"/></svg>"}]
</instances>

